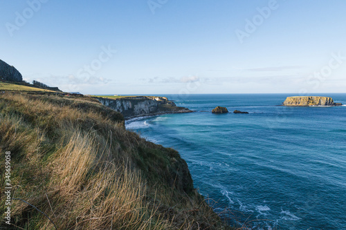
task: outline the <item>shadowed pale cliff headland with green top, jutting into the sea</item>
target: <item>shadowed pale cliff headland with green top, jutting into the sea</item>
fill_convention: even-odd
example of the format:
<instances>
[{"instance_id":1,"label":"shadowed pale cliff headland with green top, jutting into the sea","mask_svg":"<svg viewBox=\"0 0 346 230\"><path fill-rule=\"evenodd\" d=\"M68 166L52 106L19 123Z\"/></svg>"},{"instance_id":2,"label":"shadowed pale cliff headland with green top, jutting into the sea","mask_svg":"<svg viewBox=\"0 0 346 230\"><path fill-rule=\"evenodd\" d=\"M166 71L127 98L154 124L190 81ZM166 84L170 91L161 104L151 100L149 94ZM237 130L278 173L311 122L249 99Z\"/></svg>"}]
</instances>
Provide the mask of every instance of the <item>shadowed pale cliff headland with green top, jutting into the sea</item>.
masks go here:
<instances>
[{"instance_id":1,"label":"shadowed pale cliff headland with green top, jutting into the sea","mask_svg":"<svg viewBox=\"0 0 346 230\"><path fill-rule=\"evenodd\" d=\"M167 97L123 97L117 99L109 99L103 97L95 97L105 106L118 111L124 115L126 119L131 117L140 117L145 115L159 115L165 113L190 113L188 108L178 107Z\"/></svg>"}]
</instances>

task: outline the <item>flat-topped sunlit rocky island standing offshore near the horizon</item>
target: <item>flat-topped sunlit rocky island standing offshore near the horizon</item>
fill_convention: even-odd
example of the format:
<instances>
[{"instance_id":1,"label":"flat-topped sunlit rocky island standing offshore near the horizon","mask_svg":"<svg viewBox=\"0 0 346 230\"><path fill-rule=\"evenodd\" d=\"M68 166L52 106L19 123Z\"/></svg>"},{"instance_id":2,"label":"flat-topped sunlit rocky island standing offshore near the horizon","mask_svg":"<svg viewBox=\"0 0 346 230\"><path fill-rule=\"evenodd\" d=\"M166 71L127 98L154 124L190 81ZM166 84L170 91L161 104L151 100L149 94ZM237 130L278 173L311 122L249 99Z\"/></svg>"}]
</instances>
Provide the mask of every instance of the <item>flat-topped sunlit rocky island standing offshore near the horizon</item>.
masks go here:
<instances>
[{"instance_id":1,"label":"flat-topped sunlit rocky island standing offshore near the horizon","mask_svg":"<svg viewBox=\"0 0 346 230\"><path fill-rule=\"evenodd\" d=\"M331 97L287 97L284 106L338 106Z\"/></svg>"}]
</instances>

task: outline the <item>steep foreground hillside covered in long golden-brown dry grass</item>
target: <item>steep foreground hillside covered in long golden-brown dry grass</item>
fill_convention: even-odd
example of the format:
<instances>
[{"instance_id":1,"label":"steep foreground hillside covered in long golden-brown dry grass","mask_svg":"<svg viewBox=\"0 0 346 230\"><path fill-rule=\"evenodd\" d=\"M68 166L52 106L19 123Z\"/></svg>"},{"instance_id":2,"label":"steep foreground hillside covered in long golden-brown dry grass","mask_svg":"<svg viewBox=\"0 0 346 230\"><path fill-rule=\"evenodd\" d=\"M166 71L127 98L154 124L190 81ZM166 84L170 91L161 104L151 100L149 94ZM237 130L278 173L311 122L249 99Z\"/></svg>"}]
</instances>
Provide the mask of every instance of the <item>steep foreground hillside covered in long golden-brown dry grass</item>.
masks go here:
<instances>
[{"instance_id":1,"label":"steep foreground hillside covered in long golden-brown dry grass","mask_svg":"<svg viewBox=\"0 0 346 230\"><path fill-rule=\"evenodd\" d=\"M1 165L11 152L12 196L57 229L229 229L179 153L126 131L96 99L1 93L0 151ZM55 229L26 202L13 200L0 228Z\"/></svg>"}]
</instances>

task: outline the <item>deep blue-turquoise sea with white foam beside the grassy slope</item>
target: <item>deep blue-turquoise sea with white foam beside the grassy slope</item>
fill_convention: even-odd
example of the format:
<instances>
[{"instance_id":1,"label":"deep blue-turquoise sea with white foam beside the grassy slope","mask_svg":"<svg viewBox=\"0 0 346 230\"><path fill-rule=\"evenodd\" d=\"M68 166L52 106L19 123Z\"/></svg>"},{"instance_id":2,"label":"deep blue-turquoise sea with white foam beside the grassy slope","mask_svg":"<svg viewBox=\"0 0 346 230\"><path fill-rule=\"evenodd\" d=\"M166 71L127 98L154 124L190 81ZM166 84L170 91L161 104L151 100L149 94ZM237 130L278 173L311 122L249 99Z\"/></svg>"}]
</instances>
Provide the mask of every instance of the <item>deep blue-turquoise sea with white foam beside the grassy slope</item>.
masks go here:
<instances>
[{"instance_id":1,"label":"deep blue-turquoise sea with white foam beside the grassy slope","mask_svg":"<svg viewBox=\"0 0 346 230\"><path fill-rule=\"evenodd\" d=\"M319 95L346 104L346 94ZM346 229L346 106L277 106L283 94L166 96L196 113L133 119L127 129L179 151L216 211L232 210L225 218ZM249 114L210 113L216 106Z\"/></svg>"}]
</instances>

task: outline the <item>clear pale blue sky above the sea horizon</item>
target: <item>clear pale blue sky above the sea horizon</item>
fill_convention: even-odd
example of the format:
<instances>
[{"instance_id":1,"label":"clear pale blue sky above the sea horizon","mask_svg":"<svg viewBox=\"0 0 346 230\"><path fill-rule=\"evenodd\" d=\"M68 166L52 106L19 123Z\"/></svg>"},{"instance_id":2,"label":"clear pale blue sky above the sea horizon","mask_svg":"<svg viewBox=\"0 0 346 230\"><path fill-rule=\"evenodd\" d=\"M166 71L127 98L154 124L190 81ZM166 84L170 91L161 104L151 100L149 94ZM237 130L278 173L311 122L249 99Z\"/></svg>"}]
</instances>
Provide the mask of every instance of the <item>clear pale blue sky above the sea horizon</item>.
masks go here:
<instances>
[{"instance_id":1,"label":"clear pale blue sky above the sea horizon","mask_svg":"<svg viewBox=\"0 0 346 230\"><path fill-rule=\"evenodd\" d=\"M346 93L345 0L0 0L0 59L84 94Z\"/></svg>"}]
</instances>

